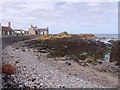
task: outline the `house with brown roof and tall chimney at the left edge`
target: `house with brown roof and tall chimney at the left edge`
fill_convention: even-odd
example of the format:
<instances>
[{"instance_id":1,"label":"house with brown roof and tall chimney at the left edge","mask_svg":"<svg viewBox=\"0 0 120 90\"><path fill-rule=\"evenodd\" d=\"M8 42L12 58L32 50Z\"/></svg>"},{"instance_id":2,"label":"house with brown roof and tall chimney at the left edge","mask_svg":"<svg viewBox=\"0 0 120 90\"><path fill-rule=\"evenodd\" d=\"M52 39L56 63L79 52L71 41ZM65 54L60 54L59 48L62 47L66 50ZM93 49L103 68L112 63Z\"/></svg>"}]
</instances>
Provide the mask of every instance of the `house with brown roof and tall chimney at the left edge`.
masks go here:
<instances>
[{"instance_id":1,"label":"house with brown roof and tall chimney at the left edge","mask_svg":"<svg viewBox=\"0 0 120 90\"><path fill-rule=\"evenodd\" d=\"M14 30L11 28L11 23L8 22L8 26L1 26L0 25L0 34L2 36L12 36L14 35Z\"/></svg>"}]
</instances>

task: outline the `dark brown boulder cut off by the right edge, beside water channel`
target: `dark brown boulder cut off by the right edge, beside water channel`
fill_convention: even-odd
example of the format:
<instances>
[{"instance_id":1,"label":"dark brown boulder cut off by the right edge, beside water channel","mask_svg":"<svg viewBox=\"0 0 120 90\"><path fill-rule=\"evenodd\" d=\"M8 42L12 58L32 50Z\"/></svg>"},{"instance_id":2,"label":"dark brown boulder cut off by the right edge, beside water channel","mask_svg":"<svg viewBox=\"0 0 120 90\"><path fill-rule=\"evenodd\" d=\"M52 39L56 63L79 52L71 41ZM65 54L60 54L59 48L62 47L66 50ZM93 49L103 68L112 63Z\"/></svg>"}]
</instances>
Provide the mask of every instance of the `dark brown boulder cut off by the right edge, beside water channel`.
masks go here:
<instances>
[{"instance_id":1,"label":"dark brown boulder cut off by the right edge, beside water channel","mask_svg":"<svg viewBox=\"0 0 120 90\"><path fill-rule=\"evenodd\" d=\"M120 65L120 41L114 41L112 43L110 62L116 61L117 65Z\"/></svg>"}]
</instances>

